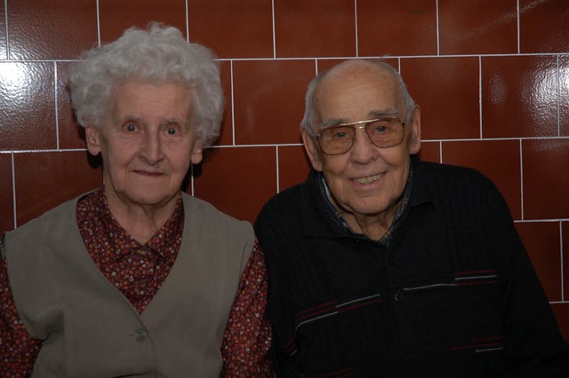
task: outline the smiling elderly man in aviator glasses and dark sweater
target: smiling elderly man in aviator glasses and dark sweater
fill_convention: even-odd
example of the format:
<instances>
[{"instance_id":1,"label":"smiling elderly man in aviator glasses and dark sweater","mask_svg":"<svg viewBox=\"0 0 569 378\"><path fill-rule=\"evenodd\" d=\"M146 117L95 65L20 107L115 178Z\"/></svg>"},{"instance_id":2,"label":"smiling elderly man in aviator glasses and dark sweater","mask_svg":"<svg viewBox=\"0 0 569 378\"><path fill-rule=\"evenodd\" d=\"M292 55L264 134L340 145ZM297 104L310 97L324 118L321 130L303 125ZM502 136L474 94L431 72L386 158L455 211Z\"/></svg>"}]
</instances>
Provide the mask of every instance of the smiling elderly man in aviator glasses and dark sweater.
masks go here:
<instances>
[{"instance_id":1,"label":"smiling elderly man in aviator glasses and dark sweater","mask_svg":"<svg viewBox=\"0 0 569 378\"><path fill-rule=\"evenodd\" d=\"M255 223L279 376L569 376L505 201L414 156L420 109L396 70L317 75L301 132L309 179Z\"/></svg>"}]
</instances>

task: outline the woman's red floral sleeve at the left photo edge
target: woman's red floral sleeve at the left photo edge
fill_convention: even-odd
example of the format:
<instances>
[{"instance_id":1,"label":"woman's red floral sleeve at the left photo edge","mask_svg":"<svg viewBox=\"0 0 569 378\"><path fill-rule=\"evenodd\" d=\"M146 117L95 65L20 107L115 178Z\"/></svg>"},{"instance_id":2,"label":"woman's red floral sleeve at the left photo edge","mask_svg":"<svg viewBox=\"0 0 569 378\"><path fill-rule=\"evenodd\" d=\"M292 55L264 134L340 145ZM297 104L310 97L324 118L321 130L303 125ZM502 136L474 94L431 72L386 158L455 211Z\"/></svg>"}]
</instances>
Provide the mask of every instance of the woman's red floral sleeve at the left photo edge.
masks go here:
<instances>
[{"instance_id":1,"label":"woman's red floral sleeve at the left photo edge","mask_svg":"<svg viewBox=\"0 0 569 378\"><path fill-rule=\"evenodd\" d=\"M0 259L0 303L0 376L28 377L42 343L28 335L20 320L4 258Z\"/></svg>"}]
</instances>

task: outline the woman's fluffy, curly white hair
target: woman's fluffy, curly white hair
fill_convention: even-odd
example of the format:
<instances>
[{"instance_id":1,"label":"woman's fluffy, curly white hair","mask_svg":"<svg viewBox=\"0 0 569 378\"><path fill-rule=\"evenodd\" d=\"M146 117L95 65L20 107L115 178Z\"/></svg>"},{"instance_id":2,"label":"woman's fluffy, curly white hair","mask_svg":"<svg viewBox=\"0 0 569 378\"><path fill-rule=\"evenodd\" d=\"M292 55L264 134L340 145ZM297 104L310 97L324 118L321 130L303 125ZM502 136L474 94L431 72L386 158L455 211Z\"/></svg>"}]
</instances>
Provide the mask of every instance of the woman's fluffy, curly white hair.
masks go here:
<instances>
[{"instance_id":1,"label":"woman's fluffy, curly white hair","mask_svg":"<svg viewBox=\"0 0 569 378\"><path fill-rule=\"evenodd\" d=\"M220 134L223 91L213 52L188 43L180 30L150 22L128 28L113 43L85 51L69 70L71 102L79 124L102 127L116 88L127 82L173 83L191 90L192 122L203 146Z\"/></svg>"}]
</instances>

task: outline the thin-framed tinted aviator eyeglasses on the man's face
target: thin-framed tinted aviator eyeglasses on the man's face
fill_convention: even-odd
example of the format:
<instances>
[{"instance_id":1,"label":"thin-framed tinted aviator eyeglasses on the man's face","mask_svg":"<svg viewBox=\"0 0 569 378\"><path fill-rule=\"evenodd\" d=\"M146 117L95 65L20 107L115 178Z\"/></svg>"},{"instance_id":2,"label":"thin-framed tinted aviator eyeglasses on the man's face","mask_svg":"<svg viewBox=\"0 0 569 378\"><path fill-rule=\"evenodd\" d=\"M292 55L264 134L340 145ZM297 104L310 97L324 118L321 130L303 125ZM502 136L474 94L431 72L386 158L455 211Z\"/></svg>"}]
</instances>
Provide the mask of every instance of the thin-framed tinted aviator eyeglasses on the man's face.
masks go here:
<instances>
[{"instance_id":1,"label":"thin-framed tinted aviator eyeglasses on the man's face","mask_svg":"<svg viewBox=\"0 0 569 378\"><path fill-rule=\"evenodd\" d=\"M356 129L365 129L367 138L380 148L397 146L403 141L405 122L397 117L381 117L368 121L340 123L327 127L317 134L324 154L345 154L354 145Z\"/></svg>"}]
</instances>

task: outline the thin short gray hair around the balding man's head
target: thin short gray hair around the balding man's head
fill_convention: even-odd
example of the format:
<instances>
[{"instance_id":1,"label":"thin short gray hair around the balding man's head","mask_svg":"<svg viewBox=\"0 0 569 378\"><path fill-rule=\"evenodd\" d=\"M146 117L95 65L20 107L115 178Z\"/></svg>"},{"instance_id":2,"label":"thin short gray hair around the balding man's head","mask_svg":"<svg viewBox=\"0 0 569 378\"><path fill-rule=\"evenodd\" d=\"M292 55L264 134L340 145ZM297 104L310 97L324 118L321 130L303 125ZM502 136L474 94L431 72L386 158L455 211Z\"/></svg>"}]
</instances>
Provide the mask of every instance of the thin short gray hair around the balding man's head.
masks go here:
<instances>
[{"instance_id":1,"label":"thin short gray hair around the balding man's head","mask_svg":"<svg viewBox=\"0 0 569 378\"><path fill-rule=\"evenodd\" d=\"M399 75L397 70L394 67L391 67L389 63L386 63L383 60L350 59L342 62L341 65L349 64L356 61L367 61L373 63L377 67L386 70L390 75L393 76L393 78L398 83L399 87L399 98L398 98L399 104L405 104L405 122L407 123L413 122L412 118L413 118L413 110L415 108L415 101L413 100L413 98L411 98L411 95L407 90L407 86L405 85L403 77ZM324 79L325 76L333 69L334 67L318 73L318 75L316 75L314 79L310 81L309 87L306 91L304 117L302 118L301 121L301 128L307 130L309 132L309 135L313 137L316 136L317 133L316 123L320 118L319 114L317 114L317 104L315 102L314 94L317 91L318 84L322 82L322 79Z\"/></svg>"}]
</instances>

